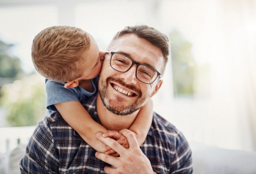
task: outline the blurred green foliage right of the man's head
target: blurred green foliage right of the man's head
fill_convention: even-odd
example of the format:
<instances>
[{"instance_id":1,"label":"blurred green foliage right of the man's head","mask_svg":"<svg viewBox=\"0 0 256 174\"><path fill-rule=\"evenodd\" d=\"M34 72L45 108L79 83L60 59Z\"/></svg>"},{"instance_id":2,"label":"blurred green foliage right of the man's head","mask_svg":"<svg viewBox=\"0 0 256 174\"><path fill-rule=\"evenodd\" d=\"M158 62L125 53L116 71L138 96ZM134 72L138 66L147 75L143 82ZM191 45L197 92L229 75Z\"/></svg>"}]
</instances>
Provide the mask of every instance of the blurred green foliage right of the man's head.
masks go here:
<instances>
[{"instance_id":1,"label":"blurred green foliage right of the man's head","mask_svg":"<svg viewBox=\"0 0 256 174\"><path fill-rule=\"evenodd\" d=\"M192 44L173 30L170 35L174 96L192 97L194 94L195 60L191 54Z\"/></svg>"}]
</instances>

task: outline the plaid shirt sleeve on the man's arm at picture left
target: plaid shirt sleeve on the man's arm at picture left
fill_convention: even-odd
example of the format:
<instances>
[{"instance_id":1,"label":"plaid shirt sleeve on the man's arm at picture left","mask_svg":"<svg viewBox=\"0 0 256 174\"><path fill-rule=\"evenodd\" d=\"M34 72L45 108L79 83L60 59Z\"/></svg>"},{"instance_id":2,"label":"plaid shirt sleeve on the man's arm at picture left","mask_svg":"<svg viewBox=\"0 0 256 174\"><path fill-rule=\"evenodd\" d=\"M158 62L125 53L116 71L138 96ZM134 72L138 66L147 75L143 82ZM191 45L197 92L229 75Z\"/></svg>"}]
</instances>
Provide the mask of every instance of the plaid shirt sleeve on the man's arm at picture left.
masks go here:
<instances>
[{"instance_id":1,"label":"plaid shirt sleeve on the man's arm at picture left","mask_svg":"<svg viewBox=\"0 0 256 174\"><path fill-rule=\"evenodd\" d=\"M57 149L47 119L36 127L20 162L21 174L59 173Z\"/></svg>"}]
</instances>

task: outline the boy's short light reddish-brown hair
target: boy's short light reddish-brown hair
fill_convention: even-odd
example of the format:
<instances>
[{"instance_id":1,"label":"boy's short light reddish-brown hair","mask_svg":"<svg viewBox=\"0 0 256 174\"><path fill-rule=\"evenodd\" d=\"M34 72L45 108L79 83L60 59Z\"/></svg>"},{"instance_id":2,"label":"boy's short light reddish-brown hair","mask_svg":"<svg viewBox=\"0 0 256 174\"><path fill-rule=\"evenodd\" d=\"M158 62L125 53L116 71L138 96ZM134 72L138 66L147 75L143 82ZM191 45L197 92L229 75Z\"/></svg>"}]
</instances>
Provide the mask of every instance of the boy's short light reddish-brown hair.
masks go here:
<instances>
[{"instance_id":1,"label":"boy's short light reddish-brown hair","mask_svg":"<svg viewBox=\"0 0 256 174\"><path fill-rule=\"evenodd\" d=\"M82 54L90 47L89 35L80 28L53 26L33 40L32 61L38 73L56 82L83 76L86 61Z\"/></svg>"}]
</instances>

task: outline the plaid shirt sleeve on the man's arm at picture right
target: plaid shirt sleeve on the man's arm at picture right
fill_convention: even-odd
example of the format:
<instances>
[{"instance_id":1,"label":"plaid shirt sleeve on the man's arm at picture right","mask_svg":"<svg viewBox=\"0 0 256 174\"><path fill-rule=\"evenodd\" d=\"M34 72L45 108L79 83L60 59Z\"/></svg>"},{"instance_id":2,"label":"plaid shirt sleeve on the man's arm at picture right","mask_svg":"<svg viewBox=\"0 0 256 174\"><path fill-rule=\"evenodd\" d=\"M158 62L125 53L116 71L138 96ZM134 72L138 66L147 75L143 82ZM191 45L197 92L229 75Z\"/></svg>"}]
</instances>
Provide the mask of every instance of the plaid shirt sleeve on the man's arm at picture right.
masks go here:
<instances>
[{"instance_id":1,"label":"plaid shirt sleeve on the man's arm at picture right","mask_svg":"<svg viewBox=\"0 0 256 174\"><path fill-rule=\"evenodd\" d=\"M170 174L192 174L192 153L187 140L178 133L176 138L176 151L171 163Z\"/></svg>"}]
</instances>

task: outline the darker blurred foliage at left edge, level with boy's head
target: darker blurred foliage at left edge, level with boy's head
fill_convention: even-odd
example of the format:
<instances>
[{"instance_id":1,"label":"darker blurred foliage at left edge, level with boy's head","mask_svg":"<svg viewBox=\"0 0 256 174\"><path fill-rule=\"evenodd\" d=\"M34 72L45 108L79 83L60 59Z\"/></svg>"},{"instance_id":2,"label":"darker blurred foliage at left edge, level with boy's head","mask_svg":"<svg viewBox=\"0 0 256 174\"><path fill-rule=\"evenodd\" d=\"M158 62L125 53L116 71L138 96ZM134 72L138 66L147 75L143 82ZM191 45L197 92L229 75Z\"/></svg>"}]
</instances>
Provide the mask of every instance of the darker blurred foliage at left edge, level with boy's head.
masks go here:
<instances>
[{"instance_id":1,"label":"darker blurred foliage at left edge, level with boy's head","mask_svg":"<svg viewBox=\"0 0 256 174\"><path fill-rule=\"evenodd\" d=\"M15 78L18 73L22 72L20 60L11 57L7 52L13 47L13 44L6 44L0 41L0 77Z\"/></svg>"}]
</instances>

